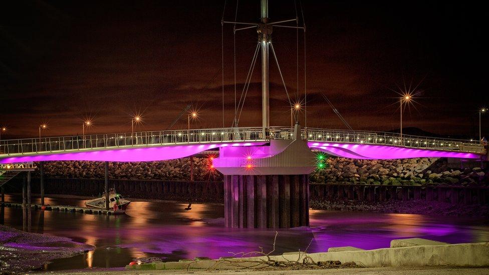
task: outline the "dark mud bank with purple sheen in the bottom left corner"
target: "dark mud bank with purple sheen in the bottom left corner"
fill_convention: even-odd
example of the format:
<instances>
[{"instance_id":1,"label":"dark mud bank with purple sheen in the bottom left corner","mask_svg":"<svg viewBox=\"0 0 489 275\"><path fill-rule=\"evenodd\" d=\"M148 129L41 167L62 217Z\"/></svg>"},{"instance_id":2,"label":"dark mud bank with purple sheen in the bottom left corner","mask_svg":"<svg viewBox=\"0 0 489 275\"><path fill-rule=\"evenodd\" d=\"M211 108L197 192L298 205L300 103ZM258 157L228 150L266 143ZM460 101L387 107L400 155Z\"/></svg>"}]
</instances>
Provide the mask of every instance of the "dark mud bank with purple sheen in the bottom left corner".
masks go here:
<instances>
[{"instance_id":1,"label":"dark mud bank with purple sheen in the bottom left corner","mask_svg":"<svg viewBox=\"0 0 489 275\"><path fill-rule=\"evenodd\" d=\"M29 271L57 258L93 250L94 246L0 225L0 273Z\"/></svg>"}]
</instances>

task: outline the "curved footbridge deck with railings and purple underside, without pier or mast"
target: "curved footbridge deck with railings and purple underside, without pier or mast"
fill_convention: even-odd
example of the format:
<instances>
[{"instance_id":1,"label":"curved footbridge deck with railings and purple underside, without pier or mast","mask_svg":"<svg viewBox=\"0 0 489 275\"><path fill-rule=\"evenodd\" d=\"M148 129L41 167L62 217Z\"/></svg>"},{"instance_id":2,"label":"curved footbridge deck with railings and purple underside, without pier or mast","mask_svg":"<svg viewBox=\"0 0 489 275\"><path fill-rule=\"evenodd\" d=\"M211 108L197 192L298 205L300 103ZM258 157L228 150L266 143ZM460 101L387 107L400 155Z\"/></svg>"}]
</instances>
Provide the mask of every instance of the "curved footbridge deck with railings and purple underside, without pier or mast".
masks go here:
<instances>
[{"instance_id":1,"label":"curved footbridge deck with railings and purple underside, without pier or mast","mask_svg":"<svg viewBox=\"0 0 489 275\"><path fill-rule=\"evenodd\" d=\"M0 163L169 160L225 146L267 145L272 139L292 139L293 131L290 127L214 128L2 140ZM476 141L387 132L304 128L302 138L313 150L356 159L481 159L486 154Z\"/></svg>"}]
</instances>

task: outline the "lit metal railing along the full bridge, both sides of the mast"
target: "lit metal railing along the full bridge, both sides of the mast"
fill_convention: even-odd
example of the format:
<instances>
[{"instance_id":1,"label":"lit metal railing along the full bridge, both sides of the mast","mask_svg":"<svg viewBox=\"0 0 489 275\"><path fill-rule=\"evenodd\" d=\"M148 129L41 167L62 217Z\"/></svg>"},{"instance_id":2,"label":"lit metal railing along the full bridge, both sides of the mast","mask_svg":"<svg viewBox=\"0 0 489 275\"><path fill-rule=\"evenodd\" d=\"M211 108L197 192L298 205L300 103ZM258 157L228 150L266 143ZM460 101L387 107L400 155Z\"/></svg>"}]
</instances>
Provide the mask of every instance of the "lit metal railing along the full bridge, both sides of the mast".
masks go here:
<instances>
[{"instance_id":1,"label":"lit metal railing along the full bridge, both sides of the mast","mask_svg":"<svg viewBox=\"0 0 489 275\"><path fill-rule=\"evenodd\" d=\"M402 135L388 132L303 128L302 138L318 142L391 145L398 147L484 153L476 141ZM91 134L0 141L1 155L67 152L114 147L140 147L158 144L220 143L291 139L291 127L240 127L147 131L134 133Z\"/></svg>"}]
</instances>

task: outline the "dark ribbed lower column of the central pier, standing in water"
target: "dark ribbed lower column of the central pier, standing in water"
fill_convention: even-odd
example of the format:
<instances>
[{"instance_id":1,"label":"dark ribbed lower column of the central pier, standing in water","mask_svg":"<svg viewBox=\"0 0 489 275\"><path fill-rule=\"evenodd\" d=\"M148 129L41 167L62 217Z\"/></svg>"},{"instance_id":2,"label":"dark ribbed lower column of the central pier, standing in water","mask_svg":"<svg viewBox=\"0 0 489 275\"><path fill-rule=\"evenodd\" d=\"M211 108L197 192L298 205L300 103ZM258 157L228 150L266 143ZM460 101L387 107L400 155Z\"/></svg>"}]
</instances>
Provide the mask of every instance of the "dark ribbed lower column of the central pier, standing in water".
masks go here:
<instances>
[{"instance_id":1,"label":"dark ribbed lower column of the central pier, standing in water","mask_svg":"<svg viewBox=\"0 0 489 275\"><path fill-rule=\"evenodd\" d=\"M309 226L308 175L224 175L226 227Z\"/></svg>"}]
</instances>

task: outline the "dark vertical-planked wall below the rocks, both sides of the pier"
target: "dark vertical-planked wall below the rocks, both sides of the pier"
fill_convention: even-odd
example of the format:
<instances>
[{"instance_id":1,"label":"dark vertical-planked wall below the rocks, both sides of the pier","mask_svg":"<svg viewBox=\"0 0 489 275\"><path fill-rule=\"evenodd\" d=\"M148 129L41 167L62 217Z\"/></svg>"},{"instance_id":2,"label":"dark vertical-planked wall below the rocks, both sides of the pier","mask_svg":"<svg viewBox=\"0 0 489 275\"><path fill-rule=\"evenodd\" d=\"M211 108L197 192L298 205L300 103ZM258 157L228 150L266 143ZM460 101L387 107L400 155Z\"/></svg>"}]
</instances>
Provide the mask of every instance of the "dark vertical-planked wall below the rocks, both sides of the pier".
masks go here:
<instances>
[{"instance_id":1,"label":"dark vertical-planked wall below the rocks, both sides of the pier","mask_svg":"<svg viewBox=\"0 0 489 275\"><path fill-rule=\"evenodd\" d=\"M15 178L6 185L7 193L22 193L23 177ZM32 192L40 192L39 178L31 182ZM98 196L104 190L104 179L45 178L46 194ZM169 181L110 179L109 186L131 198L177 200L192 202L223 202L222 181ZM386 201L442 202L454 205L489 204L487 186L450 185L368 185L311 183L310 200L361 201L377 203Z\"/></svg>"}]
</instances>

